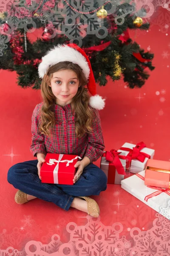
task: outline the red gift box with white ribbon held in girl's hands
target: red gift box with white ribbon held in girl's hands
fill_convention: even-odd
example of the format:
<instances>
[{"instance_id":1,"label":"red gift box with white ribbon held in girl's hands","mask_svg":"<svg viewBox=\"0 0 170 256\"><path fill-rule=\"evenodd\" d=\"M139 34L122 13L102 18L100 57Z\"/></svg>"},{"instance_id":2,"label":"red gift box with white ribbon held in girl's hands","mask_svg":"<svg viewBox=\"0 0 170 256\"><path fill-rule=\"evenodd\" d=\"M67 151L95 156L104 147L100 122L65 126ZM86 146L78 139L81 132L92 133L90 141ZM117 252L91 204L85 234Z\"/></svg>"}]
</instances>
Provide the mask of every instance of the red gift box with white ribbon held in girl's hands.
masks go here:
<instances>
[{"instance_id":1,"label":"red gift box with white ribbon held in girl's hands","mask_svg":"<svg viewBox=\"0 0 170 256\"><path fill-rule=\"evenodd\" d=\"M68 154L47 153L45 163L40 169L42 183L74 185L73 179L76 173L74 165L81 157Z\"/></svg>"}]
</instances>

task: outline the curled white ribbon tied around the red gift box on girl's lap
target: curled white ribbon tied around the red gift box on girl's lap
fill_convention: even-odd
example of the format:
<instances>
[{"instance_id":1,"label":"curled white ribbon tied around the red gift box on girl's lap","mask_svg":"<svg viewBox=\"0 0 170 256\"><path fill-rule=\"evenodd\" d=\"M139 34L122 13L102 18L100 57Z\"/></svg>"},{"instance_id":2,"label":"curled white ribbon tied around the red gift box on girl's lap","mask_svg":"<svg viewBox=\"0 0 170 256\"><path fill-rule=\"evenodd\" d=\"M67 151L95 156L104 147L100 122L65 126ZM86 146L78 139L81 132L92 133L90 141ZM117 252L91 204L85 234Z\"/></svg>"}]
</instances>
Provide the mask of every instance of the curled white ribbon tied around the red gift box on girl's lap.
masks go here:
<instances>
[{"instance_id":1,"label":"curled white ribbon tied around the red gift box on girl's lap","mask_svg":"<svg viewBox=\"0 0 170 256\"><path fill-rule=\"evenodd\" d=\"M64 154L59 154L59 159L56 160L56 159L51 159L49 160L49 163L47 163L48 165L53 165L54 162L57 163L57 165L55 166L54 168L54 171L53 171L53 176L54 176L54 184L58 184L58 170L59 170L59 163L67 163L66 166L69 166L70 163L73 163L74 160L76 160L77 158L79 159L82 159L81 157L77 156L71 160L62 160L62 157L63 157Z\"/></svg>"}]
</instances>

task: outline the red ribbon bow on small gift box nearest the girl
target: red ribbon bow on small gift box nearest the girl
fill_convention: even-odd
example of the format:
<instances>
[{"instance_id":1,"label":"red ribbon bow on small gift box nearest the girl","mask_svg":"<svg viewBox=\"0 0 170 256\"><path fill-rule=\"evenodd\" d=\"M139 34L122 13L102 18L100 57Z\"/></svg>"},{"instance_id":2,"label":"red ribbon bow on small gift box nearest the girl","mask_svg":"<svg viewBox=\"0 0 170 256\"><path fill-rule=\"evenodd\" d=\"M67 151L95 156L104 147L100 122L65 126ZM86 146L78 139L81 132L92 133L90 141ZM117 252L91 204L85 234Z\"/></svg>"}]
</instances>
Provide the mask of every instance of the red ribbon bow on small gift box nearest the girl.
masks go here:
<instances>
[{"instance_id":1,"label":"red ribbon bow on small gift box nearest the girl","mask_svg":"<svg viewBox=\"0 0 170 256\"><path fill-rule=\"evenodd\" d=\"M111 149L111 151L106 151L104 153L104 156L108 162L110 162L111 165L115 166L117 172L119 174L125 175L125 169L122 166L122 163L119 158L126 159L125 156L120 156L119 154L122 152L118 152L115 149Z\"/></svg>"}]
</instances>

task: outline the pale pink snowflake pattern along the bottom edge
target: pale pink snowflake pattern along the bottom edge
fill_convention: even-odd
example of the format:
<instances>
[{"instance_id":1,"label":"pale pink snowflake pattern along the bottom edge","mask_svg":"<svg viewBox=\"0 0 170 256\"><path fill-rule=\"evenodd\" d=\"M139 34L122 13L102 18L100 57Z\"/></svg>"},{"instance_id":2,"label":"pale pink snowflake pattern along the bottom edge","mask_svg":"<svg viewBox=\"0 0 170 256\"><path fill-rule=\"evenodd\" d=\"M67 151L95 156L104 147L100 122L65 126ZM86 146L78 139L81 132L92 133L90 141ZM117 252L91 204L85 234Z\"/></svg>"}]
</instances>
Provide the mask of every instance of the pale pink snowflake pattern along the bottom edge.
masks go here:
<instances>
[{"instance_id":1,"label":"pale pink snowflake pattern along the bottom edge","mask_svg":"<svg viewBox=\"0 0 170 256\"><path fill-rule=\"evenodd\" d=\"M170 209L170 201L166 209ZM168 216L170 217L170 215ZM138 227L129 230L130 232L127 235L130 240L127 240L126 236L121 236L123 225L119 222L115 222L111 226L105 226L100 221L100 217L91 218L91 216L87 216L87 220L88 224L85 224L85 226L78 226L74 222L67 224L66 230L70 234L68 243L62 243L60 236L54 234L51 236L49 244L31 240L26 243L22 251L18 251L14 247L8 247L6 250L0 250L0 255L167 256L170 252L170 221L159 213L156 213L156 218L153 220L153 226L150 230L143 231ZM15 232L19 237L19 231L15 230ZM34 253L31 248L34 248Z\"/></svg>"}]
</instances>

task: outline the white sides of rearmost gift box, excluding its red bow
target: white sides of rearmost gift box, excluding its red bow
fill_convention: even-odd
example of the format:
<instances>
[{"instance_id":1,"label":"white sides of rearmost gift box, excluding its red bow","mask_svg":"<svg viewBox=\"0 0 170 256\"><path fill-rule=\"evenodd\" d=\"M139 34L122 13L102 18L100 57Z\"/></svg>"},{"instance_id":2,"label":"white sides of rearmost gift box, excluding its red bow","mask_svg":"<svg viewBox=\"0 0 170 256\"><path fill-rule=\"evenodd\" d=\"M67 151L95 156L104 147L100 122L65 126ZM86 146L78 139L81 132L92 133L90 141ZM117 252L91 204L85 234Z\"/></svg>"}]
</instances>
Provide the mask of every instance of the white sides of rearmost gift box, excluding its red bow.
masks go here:
<instances>
[{"instance_id":1,"label":"white sides of rearmost gift box, excluding its red bow","mask_svg":"<svg viewBox=\"0 0 170 256\"><path fill-rule=\"evenodd\" d=\"M127 142L122 145L122 147L130 148L130 149L133 149L133 147L135 147L135 146L136 146L135 144L131 144L131 143L127 143ZM125 151L125 150L121 150L121 149L119 149L118 152L125 152L126 156L129 154L129 151ZM146 148L146 147L143 148L140 152L149 154L150 155L150 159L153 159L153 156L155 154L155 150L154 149ZM148 157L145 157L143 163L140 162L137 159L133 159L131 161L131 164L130 164L130 172L132 172L132 173L139 173L139 172L144 171L146 169L146 165L147 165L147 160L148 159L149 159Z\"/></svg>"}]
</instances>

